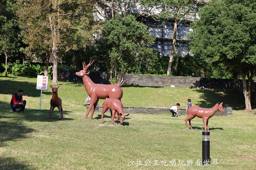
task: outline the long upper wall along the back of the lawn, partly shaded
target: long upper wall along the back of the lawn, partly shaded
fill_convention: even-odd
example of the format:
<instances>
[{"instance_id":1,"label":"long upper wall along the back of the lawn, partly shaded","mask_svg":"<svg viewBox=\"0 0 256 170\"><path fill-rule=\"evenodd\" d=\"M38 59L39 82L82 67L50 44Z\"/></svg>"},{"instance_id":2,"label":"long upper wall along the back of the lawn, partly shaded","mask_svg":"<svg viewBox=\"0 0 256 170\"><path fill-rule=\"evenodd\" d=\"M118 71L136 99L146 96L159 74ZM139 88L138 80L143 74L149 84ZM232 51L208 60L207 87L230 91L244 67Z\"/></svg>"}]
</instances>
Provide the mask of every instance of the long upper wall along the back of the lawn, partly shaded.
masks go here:
<instances>
[{"instance_id":1,"label":"long upper wall along the back of the lawn, partly shaded","mask_svg":"<svg viewBox=\"0 0 256 170\"><path fill-rule=\"evenodd\" d=\"M82 78L75 75L77 71L68 69L58 69L58 80L60 81L79 81ZM89 74L94 83L110 84L108 79L109 73L94 72ZM124 85L138 85L138 86L171 86L188 88L204 87L212 89L233 89L234 82L232 79L211 79L203 77L176 77L176 76L156 76L156 75L130 75L124 76ZM253 82L253 89L255 89L256 80ZM238 88L242 89L242 80L238 80Z\"/></svg>"}]
</instances>

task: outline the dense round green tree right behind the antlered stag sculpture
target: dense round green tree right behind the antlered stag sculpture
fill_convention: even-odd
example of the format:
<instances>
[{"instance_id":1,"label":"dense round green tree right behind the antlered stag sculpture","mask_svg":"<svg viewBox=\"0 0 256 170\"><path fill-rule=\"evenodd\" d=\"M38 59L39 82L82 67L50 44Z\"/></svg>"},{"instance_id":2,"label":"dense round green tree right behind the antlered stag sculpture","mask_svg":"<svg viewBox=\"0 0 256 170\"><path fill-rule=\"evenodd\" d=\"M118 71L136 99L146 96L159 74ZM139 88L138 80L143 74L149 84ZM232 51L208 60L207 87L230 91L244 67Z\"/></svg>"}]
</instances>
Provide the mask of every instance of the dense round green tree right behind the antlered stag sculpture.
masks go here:
<instances>
[{"instance_id":1,"label":"dense round green tree right behind the antlered stag sculpture","mask_svg":"<svg viewBox=\"0 0 256 170\"><path fill-rule=\"evenodd\" d=\"M124 74L134 69L147 69L158 52L150 48L154 38L147 26L137 22L134 16L104 22L101 38L97 42L98 61L106 64L110 81L120 85Z\"/></svg>"}]
</instances>

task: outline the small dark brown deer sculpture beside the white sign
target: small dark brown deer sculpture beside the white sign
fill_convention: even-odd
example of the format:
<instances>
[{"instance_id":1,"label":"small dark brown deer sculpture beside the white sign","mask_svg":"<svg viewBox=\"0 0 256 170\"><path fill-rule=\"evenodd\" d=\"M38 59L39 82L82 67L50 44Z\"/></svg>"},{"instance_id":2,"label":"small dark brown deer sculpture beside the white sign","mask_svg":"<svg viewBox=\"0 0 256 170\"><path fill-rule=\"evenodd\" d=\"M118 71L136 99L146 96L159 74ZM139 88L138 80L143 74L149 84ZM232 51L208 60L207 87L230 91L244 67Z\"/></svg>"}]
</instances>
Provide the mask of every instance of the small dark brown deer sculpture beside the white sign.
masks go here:
<instances>
[{"instance_id":1,"label":"small dark brown deer sculpture beside the white sign","mask_svg":"<svg viewBox=\"0 0 256 170\"><path fill-rule=\"evenodd\" d=\"M50 85L50 87L52 88L52 99L51 99L51 109L50 109L50 115L49 115L49 119L52 116L52 111L54 110L55 107L58 107L59 111L60 111L60 118L61 120L63 119L63 110L62 110L62 100L58 97L58 89L60 89L61 86L59 87L52 87Z\"/></svg>"}]
</instances>

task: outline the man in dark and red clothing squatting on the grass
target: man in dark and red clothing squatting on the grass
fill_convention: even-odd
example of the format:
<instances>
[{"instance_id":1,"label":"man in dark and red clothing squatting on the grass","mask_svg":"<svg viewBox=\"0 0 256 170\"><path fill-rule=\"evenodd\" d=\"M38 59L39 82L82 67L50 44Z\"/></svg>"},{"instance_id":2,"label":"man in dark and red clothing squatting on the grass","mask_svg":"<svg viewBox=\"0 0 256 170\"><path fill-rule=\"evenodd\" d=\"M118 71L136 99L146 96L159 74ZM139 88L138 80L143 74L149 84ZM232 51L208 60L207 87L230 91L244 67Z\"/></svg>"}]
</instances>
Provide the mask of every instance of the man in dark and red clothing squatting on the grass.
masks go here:
<instances>
[{"instance_id":1,"label":"man in dark and red clothing squatting on the grass","mask_svg":"<svg viewBox=\"0 0 256 170\"><path fill-rule=\"evenodd\" d=\"M10 104L13 112L15 112L17 108L20 109L20 113L24 112L26 101L22 100L22 95L23 90L18 90L18 93L12 95L12 100Z\"/></svg>"}]
</instances>

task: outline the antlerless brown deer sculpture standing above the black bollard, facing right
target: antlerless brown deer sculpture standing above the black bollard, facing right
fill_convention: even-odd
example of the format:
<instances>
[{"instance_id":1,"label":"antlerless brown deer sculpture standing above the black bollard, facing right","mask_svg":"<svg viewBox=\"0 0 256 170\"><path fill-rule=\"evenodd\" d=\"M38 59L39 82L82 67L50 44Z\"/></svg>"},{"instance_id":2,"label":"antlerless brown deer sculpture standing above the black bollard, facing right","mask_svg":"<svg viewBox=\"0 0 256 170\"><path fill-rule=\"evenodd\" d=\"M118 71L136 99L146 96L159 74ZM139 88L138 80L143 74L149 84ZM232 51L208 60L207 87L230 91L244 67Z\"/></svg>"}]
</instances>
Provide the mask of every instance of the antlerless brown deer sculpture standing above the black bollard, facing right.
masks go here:
<instances>
[{"instance_id":1,"label":"antlerless brown deer sculpture standing above the black bollard, facing right","mask_svg":"<svg viewBox=\"0 0 256 170\"><path fill-rule=\"evenodd\" d=\"M198 107L198 106L190 107L188 109L188 116L185 119L186 128L188 129L188 122L189 122L190 128L193 129L191 126L190 120L193 119L194 117L199 117L199 118L202 118L204 121L204 131L206 132L206 126L207 126L207 130L209 131L208 120L214 115L216 111L219 110L221 112L224 112L222 103L218 102L216 105L214 105L214 107L209 109Z\"/></svg>"}]
</instances>

